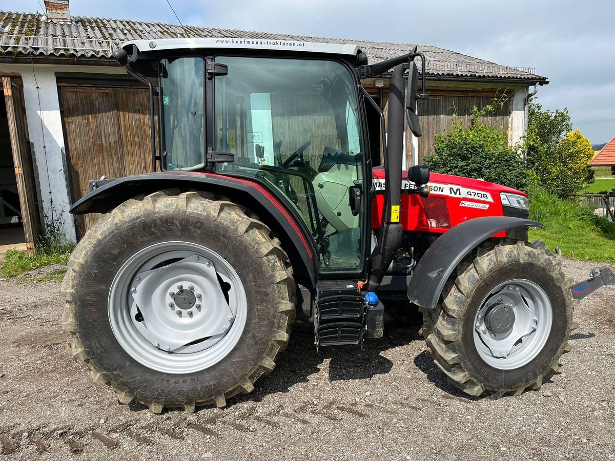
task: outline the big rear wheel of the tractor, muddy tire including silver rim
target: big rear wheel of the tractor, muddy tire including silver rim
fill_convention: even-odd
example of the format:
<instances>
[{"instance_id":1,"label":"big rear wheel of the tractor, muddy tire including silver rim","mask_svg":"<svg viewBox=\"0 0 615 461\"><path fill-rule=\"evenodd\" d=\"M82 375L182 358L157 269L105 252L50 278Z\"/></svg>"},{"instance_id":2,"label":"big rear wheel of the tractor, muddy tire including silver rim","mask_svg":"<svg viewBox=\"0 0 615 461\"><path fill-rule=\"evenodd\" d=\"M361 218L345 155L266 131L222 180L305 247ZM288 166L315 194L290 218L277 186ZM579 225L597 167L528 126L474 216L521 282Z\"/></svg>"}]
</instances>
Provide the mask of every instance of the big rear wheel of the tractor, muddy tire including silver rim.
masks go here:
<instances>
[{"instance_id":1,"label":"big rear wheel of the tractor, muddy tire including silver rim","mask_svg":"<svg viewBox=\"0 0 615 461\"><path fill-rule=\"evenodd\" d=\"M292 269L277 238L213 194L128 200L91 227L68 268L69 352L120 403L154 413L222 407L252 392L295 318Z\"/></svg>"}]
</instances>

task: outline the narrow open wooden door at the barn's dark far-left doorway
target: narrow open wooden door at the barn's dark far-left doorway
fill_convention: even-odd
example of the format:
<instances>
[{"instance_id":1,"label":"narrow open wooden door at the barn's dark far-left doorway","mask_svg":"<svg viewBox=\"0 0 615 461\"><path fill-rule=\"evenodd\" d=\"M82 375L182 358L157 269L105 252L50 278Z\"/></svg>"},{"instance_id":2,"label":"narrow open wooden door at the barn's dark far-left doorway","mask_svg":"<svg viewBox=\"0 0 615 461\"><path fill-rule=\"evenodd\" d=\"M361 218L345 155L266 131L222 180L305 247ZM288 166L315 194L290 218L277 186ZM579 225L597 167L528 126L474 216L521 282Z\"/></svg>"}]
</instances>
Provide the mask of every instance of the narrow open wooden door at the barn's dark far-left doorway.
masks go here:
<instances>
[{"instance_id":1,"label":"narrow open wooden door at the barn's dark far-left doorway","mask_svg":"<svg viewBox=\"0 0 615 461\"><path fill-rule=\"evenodd\" d=\"M34 255L34 243L40 234L39 214L34 188L32 152L23 100L23 84L17 77L2 77L4 101L9 120L10 146L15 165L15 179L22 210L23 233L30 256Z\"/></svg>"}]
</instances>

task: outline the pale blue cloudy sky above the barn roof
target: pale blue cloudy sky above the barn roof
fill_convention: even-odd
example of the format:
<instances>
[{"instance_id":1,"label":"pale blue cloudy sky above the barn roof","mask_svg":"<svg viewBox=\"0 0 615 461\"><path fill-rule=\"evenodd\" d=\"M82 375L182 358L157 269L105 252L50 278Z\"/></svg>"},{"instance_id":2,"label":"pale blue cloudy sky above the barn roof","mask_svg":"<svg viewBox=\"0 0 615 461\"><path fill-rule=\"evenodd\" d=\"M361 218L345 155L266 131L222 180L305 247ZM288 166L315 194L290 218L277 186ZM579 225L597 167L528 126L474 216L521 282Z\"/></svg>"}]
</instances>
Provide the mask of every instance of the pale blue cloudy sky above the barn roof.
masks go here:
<instances>
[{"instance_id":1,"label":"pale blue cloudy sky above the barn roof","mask_svg":"<svg viewBox=\"0 0 615 461\"><path fill-rule=\"evenodd\" d=\"M170 0L184 25L430 44L549 78L537 101L567 107L592 144L615 136L612 0ZM43 0L0 9L43 12ZM166 0L70 1L71 15L177 23Z\"/></svg>"}]
</instances>

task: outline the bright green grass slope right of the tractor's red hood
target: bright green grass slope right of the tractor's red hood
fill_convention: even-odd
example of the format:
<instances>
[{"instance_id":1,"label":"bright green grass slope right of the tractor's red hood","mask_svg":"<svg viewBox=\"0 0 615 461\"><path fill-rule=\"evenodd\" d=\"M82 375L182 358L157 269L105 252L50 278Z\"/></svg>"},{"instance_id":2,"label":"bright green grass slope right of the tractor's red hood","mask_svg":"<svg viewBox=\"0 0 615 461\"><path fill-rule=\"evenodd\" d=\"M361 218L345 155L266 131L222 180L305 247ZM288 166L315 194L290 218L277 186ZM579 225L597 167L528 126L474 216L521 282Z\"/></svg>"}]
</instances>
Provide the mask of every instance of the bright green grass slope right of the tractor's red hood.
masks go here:
<instances>
[{"instance_id":1,"label":"bright green grass slope right of the tractor's red hood","mask_svg":"<svg viewBox=\"0 0 615 461\"><path fill-rule=\"evenodd\" d=\"M550 250L559 246L566 258L615 262L615 223L538 187L530 189L530 199L530 218L544 224L542 229L530 230L530 242L538 238Z\"/></svg>"}]
</instances>

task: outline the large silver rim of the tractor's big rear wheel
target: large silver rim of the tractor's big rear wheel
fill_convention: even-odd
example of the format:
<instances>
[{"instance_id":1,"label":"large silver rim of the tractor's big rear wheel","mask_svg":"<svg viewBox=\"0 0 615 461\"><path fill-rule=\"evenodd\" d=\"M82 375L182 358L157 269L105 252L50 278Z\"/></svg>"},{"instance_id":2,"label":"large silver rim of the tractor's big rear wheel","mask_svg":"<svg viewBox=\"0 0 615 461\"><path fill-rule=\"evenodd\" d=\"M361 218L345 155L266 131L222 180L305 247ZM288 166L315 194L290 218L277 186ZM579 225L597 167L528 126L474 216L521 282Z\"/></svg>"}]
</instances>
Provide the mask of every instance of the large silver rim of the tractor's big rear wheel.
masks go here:
<instances>
[{"instance_id":1,"label":"large silver rim of the tractor's big rear wheel","mask_svg":"<svg viewBox=\"0 0 615 461\"><path fill-rule=\"evenodd\" d=\"M161 242L119 269L108 314L130 357L157 371L184 374L213 366L237 345L247 298L239 275L220 254L196 243Z\"/></svg>"}]
</instances>

